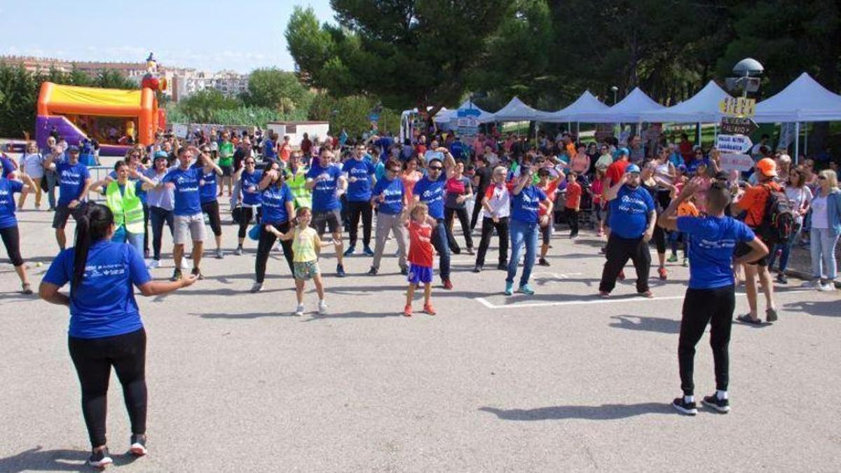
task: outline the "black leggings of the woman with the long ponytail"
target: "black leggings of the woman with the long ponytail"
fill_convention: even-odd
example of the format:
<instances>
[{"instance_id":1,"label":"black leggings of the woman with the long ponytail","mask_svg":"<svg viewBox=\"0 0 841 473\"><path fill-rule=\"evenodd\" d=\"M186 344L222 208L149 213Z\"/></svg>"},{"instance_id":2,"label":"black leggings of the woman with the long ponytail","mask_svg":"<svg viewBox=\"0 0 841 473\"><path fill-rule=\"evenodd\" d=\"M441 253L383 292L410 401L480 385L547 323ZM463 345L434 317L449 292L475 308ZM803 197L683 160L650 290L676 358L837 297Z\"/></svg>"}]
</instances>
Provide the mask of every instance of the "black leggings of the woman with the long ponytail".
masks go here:
<instances>
[{"instance_id":1,"label":"black leggings of the woman with the long ponytail","mask_svg":"<svg viewBox=\"0 0 841 473\"><path fill-rule=\"evenodd\" d=\"M69 337L70 358L82 385L82 415L91 446L104 445L105 415L108 412L108 380L111 367L123 385L131 433L146 433L146 332L103 338Z\"/></svg>"}]
</instances>

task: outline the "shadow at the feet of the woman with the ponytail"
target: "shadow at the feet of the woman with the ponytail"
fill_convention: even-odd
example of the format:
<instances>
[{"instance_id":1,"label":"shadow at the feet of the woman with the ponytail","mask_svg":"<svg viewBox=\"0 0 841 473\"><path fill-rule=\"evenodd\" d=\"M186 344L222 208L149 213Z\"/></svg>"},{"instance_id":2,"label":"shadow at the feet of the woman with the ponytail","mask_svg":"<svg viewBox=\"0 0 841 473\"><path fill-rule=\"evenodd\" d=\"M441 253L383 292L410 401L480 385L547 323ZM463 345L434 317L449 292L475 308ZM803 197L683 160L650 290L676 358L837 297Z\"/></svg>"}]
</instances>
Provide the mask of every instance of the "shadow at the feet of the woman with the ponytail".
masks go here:
<instances>
[{"instance_id":1,"label":"shadow at the feet of the woman with the ponytail","mask_svg":"<svg viewBox=\"0 0 841 473\"><path fill-rule=\"evenodd\" d=\"M44 450L39 445L34 449L0 458L0 471L95 471L96 469L85 465L88 454L82 450ZM112 453L111 458L117 466L130 465L137 460L137 457L130 453Z\"/></svg>"}]
</instances>

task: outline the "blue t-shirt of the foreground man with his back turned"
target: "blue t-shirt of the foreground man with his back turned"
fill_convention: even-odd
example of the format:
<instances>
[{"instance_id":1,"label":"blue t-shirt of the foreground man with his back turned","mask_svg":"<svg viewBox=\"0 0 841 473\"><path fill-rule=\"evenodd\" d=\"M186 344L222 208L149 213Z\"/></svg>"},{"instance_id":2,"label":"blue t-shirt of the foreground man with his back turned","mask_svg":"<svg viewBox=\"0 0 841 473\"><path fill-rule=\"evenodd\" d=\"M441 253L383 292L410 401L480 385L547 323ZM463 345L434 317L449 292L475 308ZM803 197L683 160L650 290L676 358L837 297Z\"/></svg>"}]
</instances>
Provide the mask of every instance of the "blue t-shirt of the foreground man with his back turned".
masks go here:
<instances>
[{"instance_id":1,"label":"blue t-shirt of the foreground man with his back turned","mask_svg":"<svg viewBox=\"0 0 841 473\"><path fill-rule=\"evenodd\" d=\"M732 217L678 217L678 231L690 236L689 287L715 289L734 284L733 250L754 239L743 222Z\"/></svg>"}]
</instances>

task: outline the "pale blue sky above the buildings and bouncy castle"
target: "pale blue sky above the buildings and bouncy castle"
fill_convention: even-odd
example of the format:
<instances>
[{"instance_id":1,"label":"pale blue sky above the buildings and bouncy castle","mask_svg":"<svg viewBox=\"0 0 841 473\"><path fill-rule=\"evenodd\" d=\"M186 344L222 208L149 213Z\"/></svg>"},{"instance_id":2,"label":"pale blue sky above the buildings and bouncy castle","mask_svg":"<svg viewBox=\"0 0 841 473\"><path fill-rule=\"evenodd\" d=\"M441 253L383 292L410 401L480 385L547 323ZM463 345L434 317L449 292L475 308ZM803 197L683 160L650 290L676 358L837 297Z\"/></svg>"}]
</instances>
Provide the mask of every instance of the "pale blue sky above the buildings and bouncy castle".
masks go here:
<instances>
[{"instance_id":1,"label":"pale blue sky above the buildings and bouncy castle","mask_svg":"<svg viewBox=\"0 0 841 473\"><path fill-rule=\"evenodd\" d=\"M251 72L294 70L283 32L295 5L333 20L328 0L0 0L0 56L145 61Z\"/></svg>"}]
</instances>

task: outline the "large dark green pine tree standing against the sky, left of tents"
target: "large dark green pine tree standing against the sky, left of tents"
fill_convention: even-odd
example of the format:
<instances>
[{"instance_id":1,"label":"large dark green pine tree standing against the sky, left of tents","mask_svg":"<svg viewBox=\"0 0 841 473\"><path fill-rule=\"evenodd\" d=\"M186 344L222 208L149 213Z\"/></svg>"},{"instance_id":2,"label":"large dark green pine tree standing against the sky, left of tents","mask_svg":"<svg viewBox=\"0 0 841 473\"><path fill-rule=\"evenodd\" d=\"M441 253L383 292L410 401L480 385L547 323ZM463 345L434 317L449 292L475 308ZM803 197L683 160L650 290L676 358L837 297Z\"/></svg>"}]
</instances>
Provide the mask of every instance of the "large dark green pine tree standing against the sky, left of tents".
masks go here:
<instances>
[{"instance_id":1,"label":"large dark green pine tree standing against the sky, left of tents","mask_svg":"<svg viewBox=\"0 0 841 473\"><path fill-rule=\"evenodd\" d=\"M455 105L482 66L505 0L331 0L338 27L296 8L286 30L300 77L336 96L419 109Z\"/></svg>"}]
</instances>

